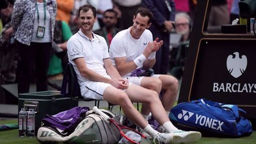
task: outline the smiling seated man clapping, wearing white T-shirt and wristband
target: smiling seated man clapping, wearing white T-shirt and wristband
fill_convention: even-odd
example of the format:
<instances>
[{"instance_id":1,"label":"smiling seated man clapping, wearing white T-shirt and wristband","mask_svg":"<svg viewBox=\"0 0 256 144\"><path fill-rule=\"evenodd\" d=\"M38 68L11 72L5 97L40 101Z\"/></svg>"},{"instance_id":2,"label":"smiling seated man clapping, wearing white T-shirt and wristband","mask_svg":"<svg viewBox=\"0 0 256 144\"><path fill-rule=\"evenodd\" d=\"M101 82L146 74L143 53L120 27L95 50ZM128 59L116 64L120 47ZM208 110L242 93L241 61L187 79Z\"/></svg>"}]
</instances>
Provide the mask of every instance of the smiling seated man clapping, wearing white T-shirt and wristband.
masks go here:
<instances>
[{"instance_id":1,"label":"smiling seated man clapping, wearing white T-shirt and wristband","mask_svg":"<svg viewBox=\"0 0 256 144\"><path fill-rule=\"evenodd\" d=\"M147 8L139 8L133 17L133 26L123 30L113 38L110 45L110 58L121 76L129 82L147 89L162 91L162 105L166 114L169 115L176 99L178 81L170 75L152 75L151 77L138 77L138 71L152 68L155 64L156 51L163 45L163 41L156 38L153 41L152 33L147 30L150 27L153 14ZM151 45L155 45L151 47ZM142 116L147 120L150 110L148 105L143 103ZM178 130L172 126L170 132ZM160 126L158 131L164 132ZM168 130L167 130L168 131Z\"/></svg>"}]
</instances>

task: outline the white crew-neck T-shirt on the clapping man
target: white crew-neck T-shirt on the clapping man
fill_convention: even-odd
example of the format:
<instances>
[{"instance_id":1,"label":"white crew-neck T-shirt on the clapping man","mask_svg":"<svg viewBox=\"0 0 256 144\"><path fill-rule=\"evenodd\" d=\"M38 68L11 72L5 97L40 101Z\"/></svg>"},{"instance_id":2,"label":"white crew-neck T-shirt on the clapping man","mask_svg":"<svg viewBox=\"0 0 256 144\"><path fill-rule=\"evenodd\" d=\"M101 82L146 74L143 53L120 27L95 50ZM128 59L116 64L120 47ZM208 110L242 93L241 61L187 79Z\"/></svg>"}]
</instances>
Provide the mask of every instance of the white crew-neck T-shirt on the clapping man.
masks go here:
<instances>
[{"instance_id":1,"label":"white crew-neck T-shirt on the clapping man","mask_svg":"<svg viewBox=\"0 0 256 144\"><path fill-rule=\"evenodd\" d=\"M143 53L148 42L153 41L152 33L149 30L146 29L139 39L135 39L130 33L130 28L118 32L111 41L109 55L114 66L114 58L126 56L126 61L131 62ZM142 67L140 66L137 69ZM131 73L128 73L124 77L129 77L130 75Z\"/></svg>"}]
</instances>

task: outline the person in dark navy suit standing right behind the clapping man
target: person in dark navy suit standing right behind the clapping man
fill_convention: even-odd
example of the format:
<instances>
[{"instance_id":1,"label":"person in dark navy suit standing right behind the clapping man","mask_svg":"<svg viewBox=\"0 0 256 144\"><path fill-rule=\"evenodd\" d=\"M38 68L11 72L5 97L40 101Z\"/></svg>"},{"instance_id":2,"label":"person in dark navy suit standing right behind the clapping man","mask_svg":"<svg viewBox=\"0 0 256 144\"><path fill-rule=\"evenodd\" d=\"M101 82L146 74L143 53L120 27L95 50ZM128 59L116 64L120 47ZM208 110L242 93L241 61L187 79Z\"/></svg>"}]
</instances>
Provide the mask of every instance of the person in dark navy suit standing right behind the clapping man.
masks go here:
<instances>
[{"instance_id":1,"label":"person in dark navy suit standing right behind the clapping man","mask_svg":"<svg viewBox=\"0 0 256 144\"><path fill-rule=\"evenodd\" d=\"M148 8L154 15L149 30L153 39L164 41L163 46L156 52L156 63L153 67L155 74L167 74L169 69L170 33L173 29L175 5L173 0L142 0L142 6Z\"/></svg>"}]
</instances>

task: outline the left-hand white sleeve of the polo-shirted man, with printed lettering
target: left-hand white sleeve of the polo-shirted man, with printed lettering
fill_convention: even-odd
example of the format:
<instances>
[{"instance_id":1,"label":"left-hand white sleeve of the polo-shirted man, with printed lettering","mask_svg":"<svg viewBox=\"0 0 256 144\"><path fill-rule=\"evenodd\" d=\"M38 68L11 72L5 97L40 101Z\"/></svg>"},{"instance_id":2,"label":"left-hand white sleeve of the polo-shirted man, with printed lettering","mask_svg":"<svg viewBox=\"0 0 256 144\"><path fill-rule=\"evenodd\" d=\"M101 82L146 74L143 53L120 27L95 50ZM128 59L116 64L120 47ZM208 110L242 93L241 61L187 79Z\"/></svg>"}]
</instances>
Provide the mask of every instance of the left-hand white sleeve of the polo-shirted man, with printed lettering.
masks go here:
<instances>
[{"instance_id":1,"label":"left-hand white sleeve of the polo-shirted man, with printed lettering","mask_svg":"<svg viewBox=\"0 0 256 144\"><path fill-rule=\"evenodd\" d=\"M68 40L67 51L68 51L68 58L71 60L84 57L82 52L82 44L78 41L78 39L70 38Z\"/></svg>"}]
</instances>

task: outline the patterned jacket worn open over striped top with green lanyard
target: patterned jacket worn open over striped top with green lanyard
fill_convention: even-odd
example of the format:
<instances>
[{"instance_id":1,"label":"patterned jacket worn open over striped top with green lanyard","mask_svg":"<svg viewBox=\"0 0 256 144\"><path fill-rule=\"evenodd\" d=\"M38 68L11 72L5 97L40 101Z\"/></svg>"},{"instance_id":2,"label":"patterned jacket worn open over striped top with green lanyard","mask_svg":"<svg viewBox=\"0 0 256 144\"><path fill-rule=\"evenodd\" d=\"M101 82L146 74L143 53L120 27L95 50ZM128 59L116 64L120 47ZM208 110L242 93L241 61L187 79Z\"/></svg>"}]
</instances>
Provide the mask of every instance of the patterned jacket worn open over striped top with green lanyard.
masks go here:
<instances>
[{"instance_id":1,"label":"patterned jacket worn open over striped top with green lanyard","mask_svg":"<svg viewBox=\"0 0 256 144\"><path fill-rule=\"evenodd\" d=\"M46 9L51 15L52 40L57 11L56 0L46 0ZM36 13L36 0L16 0L12 12L12 26L15 39L25 45L30 45L33 33L33 24Z\"/></svg>"}]
</instances>

